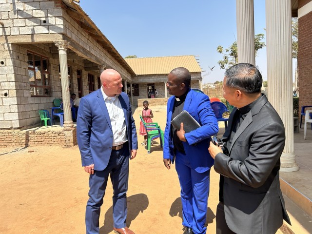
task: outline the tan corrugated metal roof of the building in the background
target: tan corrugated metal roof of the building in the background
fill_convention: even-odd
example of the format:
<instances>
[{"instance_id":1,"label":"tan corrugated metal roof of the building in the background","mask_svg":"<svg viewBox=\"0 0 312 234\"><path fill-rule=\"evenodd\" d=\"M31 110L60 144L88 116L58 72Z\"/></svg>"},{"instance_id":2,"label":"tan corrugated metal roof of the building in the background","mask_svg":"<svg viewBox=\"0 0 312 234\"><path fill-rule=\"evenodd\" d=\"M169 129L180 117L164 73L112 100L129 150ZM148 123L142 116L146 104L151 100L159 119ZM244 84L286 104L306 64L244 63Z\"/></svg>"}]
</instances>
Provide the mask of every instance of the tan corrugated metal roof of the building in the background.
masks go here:
<instances>
[{"instance_id":1,"label":"tan corrugated metal roof of the building in the background","mask_svg":"<svg viewBox=\"0 0 312 234\"><path fill-rule=\"evenodd\" d=\"M201 72L194 55L125 59L137 75L169 74L176 67Z\"/></svg>"}]
</instances>

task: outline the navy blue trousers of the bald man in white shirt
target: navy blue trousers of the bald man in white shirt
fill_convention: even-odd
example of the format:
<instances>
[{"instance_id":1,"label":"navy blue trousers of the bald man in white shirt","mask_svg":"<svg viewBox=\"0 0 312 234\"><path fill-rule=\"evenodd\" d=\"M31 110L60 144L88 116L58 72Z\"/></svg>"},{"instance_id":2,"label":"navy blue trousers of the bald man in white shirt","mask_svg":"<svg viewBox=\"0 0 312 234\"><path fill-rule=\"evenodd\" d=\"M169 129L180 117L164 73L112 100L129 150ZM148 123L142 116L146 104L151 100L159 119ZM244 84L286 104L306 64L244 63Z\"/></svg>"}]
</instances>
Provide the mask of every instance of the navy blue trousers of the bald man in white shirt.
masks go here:
<instances>
[{"instance_id":1,"label":"navy blue trousers of the bald man in white shirt","mask_svg":"<svg viewBox=\"0 0 312 234\"><path fill-rule=\"evenodd\" d=\"M107 167L89 177L89 200L86 207L86 234L99 233L100 207L103 204L108 176L113 184L113 219L115 228L126 227L129 149L112 150Z\"/></svg>"}]
</instances>

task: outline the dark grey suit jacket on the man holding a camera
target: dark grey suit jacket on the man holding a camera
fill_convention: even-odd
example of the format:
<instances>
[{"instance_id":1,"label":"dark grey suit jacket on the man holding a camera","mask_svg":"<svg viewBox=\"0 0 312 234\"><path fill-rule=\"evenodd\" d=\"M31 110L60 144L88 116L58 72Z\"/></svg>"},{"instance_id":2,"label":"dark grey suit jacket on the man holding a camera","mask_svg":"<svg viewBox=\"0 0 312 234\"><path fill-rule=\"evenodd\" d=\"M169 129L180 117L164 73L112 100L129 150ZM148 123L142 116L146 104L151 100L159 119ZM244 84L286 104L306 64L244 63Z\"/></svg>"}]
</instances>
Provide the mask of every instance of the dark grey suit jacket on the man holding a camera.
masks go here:
<instances>
[{"instance_id":1,"label":"dark grey suit jacket on the man holding a camera","mask_svg":"<svg viewBox=\"0 0 312 234\"><path fill-rule=\"evenodd\" d=\"M230 136L236 111L234 108L230 115L224 141ZM279 184L284 145L283 122L262 94L238 128L232 145L226 145L229 156L215 156L225 219L234 233L274 234L283 219L290 223Z\"/></svg>"}]
</instances>

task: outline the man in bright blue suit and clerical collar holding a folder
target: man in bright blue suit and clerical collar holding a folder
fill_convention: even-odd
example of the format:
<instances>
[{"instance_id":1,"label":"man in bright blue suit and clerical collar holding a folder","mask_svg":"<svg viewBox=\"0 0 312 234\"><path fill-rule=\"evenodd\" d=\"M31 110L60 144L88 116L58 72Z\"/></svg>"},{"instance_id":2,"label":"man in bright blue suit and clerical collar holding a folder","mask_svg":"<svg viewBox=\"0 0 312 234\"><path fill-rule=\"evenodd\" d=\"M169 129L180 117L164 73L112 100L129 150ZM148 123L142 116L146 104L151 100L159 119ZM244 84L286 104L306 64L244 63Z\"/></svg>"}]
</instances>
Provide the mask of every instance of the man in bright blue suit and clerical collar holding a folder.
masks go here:
<instances>
[{"instance_id":1,"label":"man in bright blue suit and clerical collar holding a folder","mask_svg":"<svg viewBox=\"0 0 312 234\"><path fill-rule=\"evenodd\" d=\"M173 96L167 104L163 161L168 169L176 161L184 234L205 234L210 168L214 164L208 147L211 136L218 132L218 123L209 97L190 89L190 83L191 73L186 68L175 68L168 75L167 89ZM171 120L183 110L189 112L201 127L185 133L181 123L177 131Z\"/></svg>"}]
</instances>

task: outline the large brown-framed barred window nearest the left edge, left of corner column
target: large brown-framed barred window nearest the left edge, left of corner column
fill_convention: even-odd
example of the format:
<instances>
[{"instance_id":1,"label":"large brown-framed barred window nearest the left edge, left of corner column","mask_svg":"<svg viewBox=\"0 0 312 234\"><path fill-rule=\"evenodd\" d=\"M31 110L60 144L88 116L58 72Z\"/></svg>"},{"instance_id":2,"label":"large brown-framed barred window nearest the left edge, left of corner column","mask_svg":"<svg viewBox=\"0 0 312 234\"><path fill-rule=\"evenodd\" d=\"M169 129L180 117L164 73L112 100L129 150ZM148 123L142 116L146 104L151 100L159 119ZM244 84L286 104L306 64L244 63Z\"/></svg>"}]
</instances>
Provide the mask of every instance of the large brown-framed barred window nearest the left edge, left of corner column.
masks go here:
<instances>
[{"instance_id":1,"label":"large brown-framed barred window nearest the left edge, left of corner column","mask_svg":"<svg viewBox=\"0 0 312 234\"><path fill-rule=\"evenodd\" d=\"M50 97L49 61L41 55L27 51L30 95L32 97Z\"/></svg>"}]
</instances>

